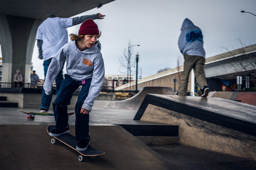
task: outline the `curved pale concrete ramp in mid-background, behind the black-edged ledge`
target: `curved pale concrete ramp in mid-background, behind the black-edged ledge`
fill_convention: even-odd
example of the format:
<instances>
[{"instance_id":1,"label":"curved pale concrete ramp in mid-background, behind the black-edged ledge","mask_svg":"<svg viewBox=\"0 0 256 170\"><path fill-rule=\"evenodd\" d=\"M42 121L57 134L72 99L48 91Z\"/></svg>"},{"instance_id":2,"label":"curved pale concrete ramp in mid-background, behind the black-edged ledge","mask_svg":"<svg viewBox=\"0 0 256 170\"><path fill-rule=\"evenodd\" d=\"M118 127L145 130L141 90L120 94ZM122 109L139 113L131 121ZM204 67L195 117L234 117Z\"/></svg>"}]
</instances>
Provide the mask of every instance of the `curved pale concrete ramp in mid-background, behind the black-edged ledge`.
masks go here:
<instances>
[{"instance_id":1,"label":"curved pale concrete ramp in mid-background, behind the black-edged ledge","mask_svg":"<svg viewBox=\"0 0 256 170\"><path fill-rule=\"evenodd\" d=\"M144 87L137 95L122 101L95 100L93 108L137 110L147 94L175 95L170 87Z\"/></svg>"}]
</instances>

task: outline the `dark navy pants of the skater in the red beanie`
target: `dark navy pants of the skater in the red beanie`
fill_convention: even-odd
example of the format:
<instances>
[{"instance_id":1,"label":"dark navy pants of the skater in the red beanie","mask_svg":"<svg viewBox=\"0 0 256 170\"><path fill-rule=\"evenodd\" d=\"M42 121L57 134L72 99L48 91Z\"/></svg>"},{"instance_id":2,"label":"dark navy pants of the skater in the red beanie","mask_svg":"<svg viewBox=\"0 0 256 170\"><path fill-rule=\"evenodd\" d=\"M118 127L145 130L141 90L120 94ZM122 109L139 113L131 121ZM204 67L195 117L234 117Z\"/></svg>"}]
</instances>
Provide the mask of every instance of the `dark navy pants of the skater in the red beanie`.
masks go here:
<instances>
[{"instance_id":1,"label":"dark navy pants of the skater in the red beanie","mask_svg":"<svg viewBox=\"0 0 256 170\"><path fill-rule=\"evenodd\" d=\"M83 140L89 137L89 114L80 113L84 100L86 99L92 79L86 79L81 91L79 92L75 113L76 113L76 140ZM68 105L73 96L74 91L82 85L81 81L72 79L65 74L65 79L62 81L57 98L53 102L53 111L56 122L56 129L63 130L68 126Z\"/></svg>"}]
</instances>

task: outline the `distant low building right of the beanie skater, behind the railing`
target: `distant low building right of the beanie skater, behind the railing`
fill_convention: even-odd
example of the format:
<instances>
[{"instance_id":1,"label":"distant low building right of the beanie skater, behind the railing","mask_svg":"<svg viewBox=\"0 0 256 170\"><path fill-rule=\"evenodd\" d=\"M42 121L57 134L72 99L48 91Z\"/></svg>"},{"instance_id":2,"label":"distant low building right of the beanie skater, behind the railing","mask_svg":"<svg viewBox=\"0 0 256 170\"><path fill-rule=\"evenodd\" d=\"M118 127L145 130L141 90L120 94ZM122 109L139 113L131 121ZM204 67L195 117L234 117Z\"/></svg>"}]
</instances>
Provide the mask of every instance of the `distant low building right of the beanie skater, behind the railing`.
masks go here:
<instances>
[{"instance_id":1,"label":"distant low building right of the beanie skater, behind the railing","mask_svg":"<svg viewBox=\"0 0 256 170\"><path fill-rule=\"evenodd\" d=\"M126 84L128 82L134 81L133 75L131 75L131 78L129 77L130 80L127 80L127 75L115 75L115 74L105 74L105 80L103 83L103 86L107 87L118 87L122 86L123 84Z\"/></svg>"}]
</instances>

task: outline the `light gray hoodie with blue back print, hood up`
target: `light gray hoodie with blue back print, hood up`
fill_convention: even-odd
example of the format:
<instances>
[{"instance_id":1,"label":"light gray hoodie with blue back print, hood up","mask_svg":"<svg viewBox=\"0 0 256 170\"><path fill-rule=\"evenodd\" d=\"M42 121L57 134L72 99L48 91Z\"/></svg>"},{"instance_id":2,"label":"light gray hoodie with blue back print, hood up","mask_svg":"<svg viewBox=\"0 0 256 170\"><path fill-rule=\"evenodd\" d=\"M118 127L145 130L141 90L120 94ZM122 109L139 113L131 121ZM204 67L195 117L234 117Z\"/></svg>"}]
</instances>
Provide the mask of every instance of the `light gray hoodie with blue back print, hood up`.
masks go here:
<instances>
[{"instance_id":1,"label":"light gray hoodie with blue back print, hood up","mask_svg":"<svg viewBox=\"0 0 256 170\"><path fill-rule=\"evenodd\" d=\"M185 19L181 26L178 41L180 52L185 55L196 55L205 57L203 34L199 27L189 19Z\"/></svg>"}]
</instances>

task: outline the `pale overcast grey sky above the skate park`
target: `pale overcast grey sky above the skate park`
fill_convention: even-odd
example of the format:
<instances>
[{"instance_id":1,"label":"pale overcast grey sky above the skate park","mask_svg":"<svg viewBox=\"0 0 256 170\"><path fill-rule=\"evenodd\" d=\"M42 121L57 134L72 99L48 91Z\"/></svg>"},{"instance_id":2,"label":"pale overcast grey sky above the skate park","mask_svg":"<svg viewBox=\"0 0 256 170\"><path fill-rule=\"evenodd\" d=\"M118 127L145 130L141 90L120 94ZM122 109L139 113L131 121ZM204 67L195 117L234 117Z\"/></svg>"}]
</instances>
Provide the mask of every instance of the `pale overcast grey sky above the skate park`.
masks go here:
<instances>
[{"instance_id":1,"label":"pale overcast grey sky above the skate park","mask_svg":"<svg viewBox=\"0 0 256 170\"><path fill-rule=\"evenodd\" d=\"M177 57L183 58L178 38L185 18L202 29L206 57L227 52L222 47L241 48L237 39L241 39L243 46L256 44L256 16L241 10L256 14L256 1L116 0L79 15L106 15L103 20L94 20L102 32L100 43L106 74L126 73L119 66L119 58L124 50L127 52L130 40L132 45L140 45L133 47L133 57L139 53L142 77L147 77L165 67L177 67ZM68 33L77 34L78 30L76 25ZM37 58L35 49L34 70L44 79L43 62Z\"/></svg>"}]
</instances>

